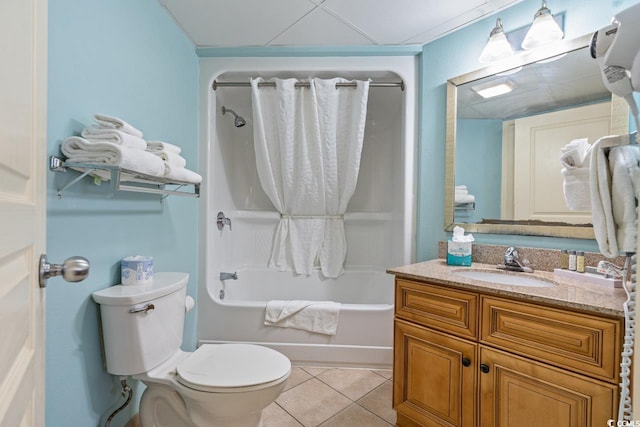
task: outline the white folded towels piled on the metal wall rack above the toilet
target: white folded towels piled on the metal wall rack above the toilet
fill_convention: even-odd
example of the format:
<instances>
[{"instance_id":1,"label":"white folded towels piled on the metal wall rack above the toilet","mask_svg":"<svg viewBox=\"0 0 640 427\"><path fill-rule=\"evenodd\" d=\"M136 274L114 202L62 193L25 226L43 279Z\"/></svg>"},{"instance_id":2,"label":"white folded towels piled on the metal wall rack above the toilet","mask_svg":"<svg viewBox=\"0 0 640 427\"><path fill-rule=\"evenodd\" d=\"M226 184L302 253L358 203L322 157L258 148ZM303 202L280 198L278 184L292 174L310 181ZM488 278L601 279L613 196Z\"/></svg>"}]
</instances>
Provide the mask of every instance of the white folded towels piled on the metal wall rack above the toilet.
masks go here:
<instances>
[{"instance_id":1,"label":"white folded towels piled on the metal wall rack above the toilet","mask_svg":"<svg viewBox=\"0 0 640 427\"><path fill-rule=\"evenodd\" d=\"M170 180L200 184L202 177L186 169L180 147L162 142L145 141L140 130L117 117L95 114L95 125L81 135L65 139L60 151L75 163L105 164ZM96 172L110 179L108 172Z\"/></svg>"}]
</instances>

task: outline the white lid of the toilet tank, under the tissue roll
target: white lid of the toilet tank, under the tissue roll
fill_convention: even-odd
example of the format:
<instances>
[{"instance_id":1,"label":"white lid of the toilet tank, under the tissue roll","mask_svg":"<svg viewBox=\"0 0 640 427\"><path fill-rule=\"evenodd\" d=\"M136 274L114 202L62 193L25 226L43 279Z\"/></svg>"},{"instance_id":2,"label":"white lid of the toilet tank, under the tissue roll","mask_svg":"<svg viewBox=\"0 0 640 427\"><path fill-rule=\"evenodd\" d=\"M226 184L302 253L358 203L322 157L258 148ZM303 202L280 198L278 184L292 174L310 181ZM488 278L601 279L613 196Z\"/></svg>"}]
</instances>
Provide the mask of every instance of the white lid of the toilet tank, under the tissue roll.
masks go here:
<instances>
[{"instance_id":1,"label":"white lid of the toilet tank, under the tissue roll","mask_svg":"<svg viewBox=\"0 0 640 427\"><path fill-rule=\"evenodd\" d=\"M169 295L187 285L188 273L154 273L148 285L115 285L92 294L98 304L131 305Z\"/></svg>"}]
</instances>

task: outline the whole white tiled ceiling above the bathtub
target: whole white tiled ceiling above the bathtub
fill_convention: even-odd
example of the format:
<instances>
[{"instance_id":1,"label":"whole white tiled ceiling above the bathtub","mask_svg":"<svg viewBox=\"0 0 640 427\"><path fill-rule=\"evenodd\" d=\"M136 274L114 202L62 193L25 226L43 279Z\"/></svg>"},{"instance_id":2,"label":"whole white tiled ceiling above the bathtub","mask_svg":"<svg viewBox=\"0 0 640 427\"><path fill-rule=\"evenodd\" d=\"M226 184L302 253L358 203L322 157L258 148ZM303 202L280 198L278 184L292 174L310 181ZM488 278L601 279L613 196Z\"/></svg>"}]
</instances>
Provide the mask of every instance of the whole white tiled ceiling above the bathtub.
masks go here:
<instances>
[{"instance_id":1,"label":"whole white tiled ceiling above the bathtub","mask_svg":"<svg viewBox=\"0 0 640 427\"><path fill-rule=\"evenodd\" d=\"M158 0L196 47L422 45L521 0Z\"/></svg>"}]
</instances>

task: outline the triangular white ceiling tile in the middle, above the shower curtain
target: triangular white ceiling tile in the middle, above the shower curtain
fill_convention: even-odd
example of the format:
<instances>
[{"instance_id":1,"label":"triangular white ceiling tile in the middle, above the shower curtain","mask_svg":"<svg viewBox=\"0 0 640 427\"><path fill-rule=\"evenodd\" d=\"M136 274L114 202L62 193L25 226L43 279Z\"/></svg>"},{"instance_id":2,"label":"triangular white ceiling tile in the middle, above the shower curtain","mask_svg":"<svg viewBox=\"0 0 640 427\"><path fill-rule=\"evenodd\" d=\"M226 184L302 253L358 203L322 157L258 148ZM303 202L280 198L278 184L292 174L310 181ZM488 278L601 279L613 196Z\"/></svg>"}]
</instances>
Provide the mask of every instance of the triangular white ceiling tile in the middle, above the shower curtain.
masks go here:
<instances>
[{"instance_id":1,"label":"triangular white ceiling tile in the middle, above the shower curtain","mask_svg":"<svg viewBox=\"0 0 640 427\"><path fill-rule=\"evenodd\" d=\"M376 44L375 41L321 8L306 15L270 43L287 46L372 44Z\"/></svg>"}]
</instances>

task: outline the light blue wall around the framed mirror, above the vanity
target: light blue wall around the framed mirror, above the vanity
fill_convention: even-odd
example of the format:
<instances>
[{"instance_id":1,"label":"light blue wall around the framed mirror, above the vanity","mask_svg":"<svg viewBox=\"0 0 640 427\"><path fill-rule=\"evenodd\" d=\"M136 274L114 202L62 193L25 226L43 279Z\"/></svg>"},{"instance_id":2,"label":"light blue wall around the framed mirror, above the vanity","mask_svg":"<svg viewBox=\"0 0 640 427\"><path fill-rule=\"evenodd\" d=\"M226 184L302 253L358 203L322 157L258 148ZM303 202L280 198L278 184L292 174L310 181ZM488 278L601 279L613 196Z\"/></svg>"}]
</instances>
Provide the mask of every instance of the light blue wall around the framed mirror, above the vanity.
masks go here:
<instances>
[{"instance_id":1,"label":"light blue wall around the framed mirror, above the vanity","mask_svg":"<svg viewBox=\"0 0 640 427\"><path fill-rule=\"evenodd\" d=\"M638 0L552 0L547 2L553 14L565 13L565 38L575 38L608 25L611 18ZM424 46L422 53L421 117L418 170L418 212L416 258L438 256L438 241L447 239L444 224L444 159L446 82L481 68L478 56L496 18L502 18L505 32L530 25L540 7L539 0L524 0L481 21ZM569 240L532 236L476 234L476 242L514 244L545 248L571 246L598 251L595 240Z\"/></svg>"}]
</instances>

